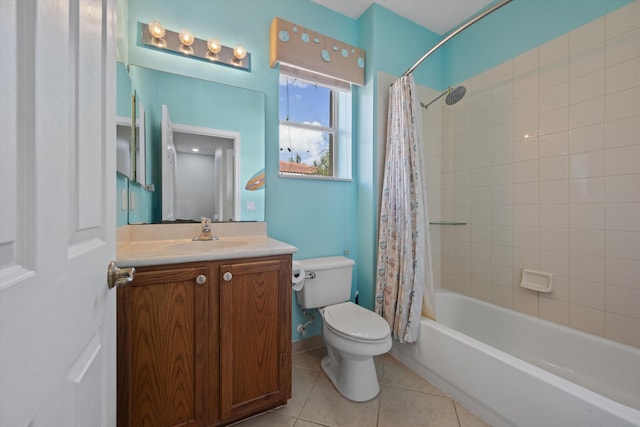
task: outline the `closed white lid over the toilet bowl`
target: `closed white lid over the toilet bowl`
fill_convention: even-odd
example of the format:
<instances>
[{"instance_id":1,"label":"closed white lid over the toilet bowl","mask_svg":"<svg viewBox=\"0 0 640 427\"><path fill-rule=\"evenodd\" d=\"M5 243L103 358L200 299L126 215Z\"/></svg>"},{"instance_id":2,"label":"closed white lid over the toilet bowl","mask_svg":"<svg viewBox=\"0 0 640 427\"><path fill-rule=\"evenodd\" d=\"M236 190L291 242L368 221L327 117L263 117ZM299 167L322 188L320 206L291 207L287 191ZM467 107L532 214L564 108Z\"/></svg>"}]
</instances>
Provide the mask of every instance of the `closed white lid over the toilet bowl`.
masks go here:
<instances>
[{"instance_id":1,"label":"closed white lid over the toilet bowl","mask_svg":"<svg viewBox=\"0 0 640 427\"><path fill-rule=\"evenodd\" d=\"M382 340L391 333L389 324L381 316L352 302L326 307L324 322L335 332L360 340Z\"/></svg>"}]
</instances>

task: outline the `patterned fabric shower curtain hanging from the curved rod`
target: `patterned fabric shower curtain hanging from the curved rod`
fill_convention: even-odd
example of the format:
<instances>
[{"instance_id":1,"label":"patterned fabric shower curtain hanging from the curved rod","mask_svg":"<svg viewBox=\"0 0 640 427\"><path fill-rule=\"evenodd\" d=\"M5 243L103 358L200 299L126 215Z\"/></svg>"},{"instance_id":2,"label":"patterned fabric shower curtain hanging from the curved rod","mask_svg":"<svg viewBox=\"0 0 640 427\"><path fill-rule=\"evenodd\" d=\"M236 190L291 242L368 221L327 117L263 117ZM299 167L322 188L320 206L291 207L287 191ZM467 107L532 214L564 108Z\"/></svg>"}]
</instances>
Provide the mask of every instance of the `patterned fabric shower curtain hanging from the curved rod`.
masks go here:
<instances>
[{"instance_id":1,"label":"patterned fabric shower curtain hanging from the curved rod","mask_svg":"<svg viewBox=\"0 0 640 427\"><path fill-rule=\"evenodd\" d=\"M375 311L403 343L416 340L421 314L434 318L419 108L413 75L396 80L389 91Z\"/></svg>"}]
</instances>

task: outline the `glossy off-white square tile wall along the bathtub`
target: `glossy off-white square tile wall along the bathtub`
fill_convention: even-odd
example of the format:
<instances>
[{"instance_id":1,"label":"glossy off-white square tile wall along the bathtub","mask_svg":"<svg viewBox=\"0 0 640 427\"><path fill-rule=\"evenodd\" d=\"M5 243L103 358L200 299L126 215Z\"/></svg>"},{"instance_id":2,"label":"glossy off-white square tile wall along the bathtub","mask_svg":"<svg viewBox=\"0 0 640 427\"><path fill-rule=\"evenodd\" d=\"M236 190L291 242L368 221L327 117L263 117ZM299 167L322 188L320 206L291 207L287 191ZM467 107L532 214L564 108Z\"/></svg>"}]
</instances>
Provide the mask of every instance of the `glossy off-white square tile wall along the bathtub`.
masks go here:
<instances>
[{"instance_id":1,"label":"glossy off-white square tile wall along the bathtub","mask_svg":"<svg viewBox=\"0 0 640 427\"><path fill-rule=\"evenodd\" d=\"M640 347L640 1L462 84L433 142L469 223L439 229L442 286Z\"/></svg>"}]
</instances>

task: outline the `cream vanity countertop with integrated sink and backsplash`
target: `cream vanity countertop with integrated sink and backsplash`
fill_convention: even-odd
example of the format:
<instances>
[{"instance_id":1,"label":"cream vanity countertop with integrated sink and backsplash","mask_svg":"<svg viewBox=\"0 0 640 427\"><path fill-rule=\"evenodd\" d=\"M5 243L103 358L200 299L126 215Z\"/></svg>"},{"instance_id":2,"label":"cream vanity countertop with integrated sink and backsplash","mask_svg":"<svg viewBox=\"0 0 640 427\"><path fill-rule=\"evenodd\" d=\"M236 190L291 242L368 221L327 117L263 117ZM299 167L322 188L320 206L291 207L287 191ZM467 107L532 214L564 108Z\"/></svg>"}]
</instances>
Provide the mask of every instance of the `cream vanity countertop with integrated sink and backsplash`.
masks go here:
<instances>
[{"instance_id":1,"label":"cream vanity countertop with integrated sink and backsplash","mask_svg":"<svg viewBox=\"0 0 640 427\"><path fill-rule=\"evenodd\" d=\"M218 240L193 241L200 224L128 225L118 229L118 267L292 254L295 246L272 239L265 223L213 223Z\"/></svg>"}]
</instances>

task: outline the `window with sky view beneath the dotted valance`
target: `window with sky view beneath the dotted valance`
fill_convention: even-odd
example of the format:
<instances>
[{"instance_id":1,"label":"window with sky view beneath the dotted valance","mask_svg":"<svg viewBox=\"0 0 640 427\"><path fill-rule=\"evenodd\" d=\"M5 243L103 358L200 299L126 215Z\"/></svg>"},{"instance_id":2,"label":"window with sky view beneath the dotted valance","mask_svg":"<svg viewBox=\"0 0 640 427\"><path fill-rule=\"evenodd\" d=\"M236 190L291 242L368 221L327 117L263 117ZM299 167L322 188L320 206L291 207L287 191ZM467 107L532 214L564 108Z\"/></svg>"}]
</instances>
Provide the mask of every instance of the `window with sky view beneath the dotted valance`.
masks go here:
<instances>
[{"instance_id":1,"label":"window with sky view beneath the dotted valance","mask_svg":"<svg viewBox=\"0 0 640 427\"><path fill-rule=\"evenodd\" d=\"M280 175L351 179L349 86L300 74L281 66Z\"/></svg>"}]
</instances>

